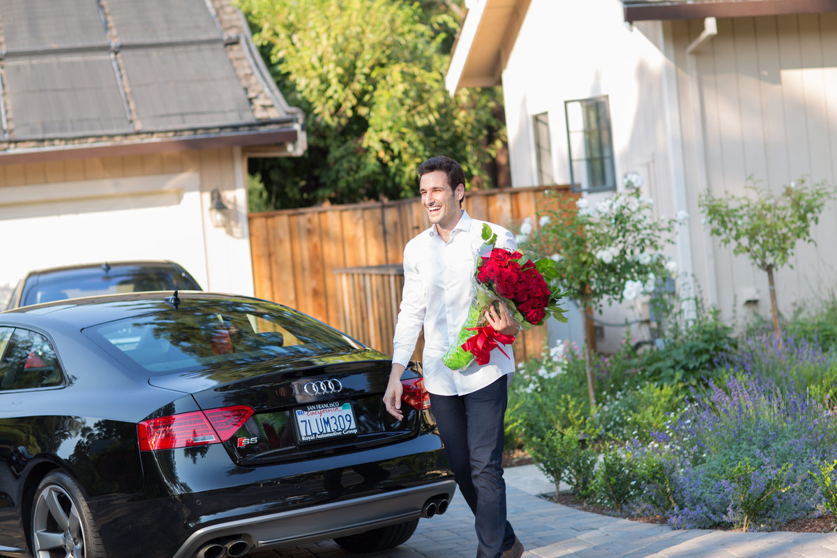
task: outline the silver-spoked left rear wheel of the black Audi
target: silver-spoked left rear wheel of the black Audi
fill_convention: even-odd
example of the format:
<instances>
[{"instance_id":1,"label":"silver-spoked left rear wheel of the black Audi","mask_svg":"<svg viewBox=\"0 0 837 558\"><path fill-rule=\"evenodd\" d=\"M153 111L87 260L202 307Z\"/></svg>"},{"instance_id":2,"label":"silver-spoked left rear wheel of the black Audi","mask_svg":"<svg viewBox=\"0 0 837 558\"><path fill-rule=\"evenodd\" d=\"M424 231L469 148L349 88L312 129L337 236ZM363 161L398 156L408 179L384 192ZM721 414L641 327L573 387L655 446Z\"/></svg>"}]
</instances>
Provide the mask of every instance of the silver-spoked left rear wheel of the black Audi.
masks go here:
<instances>
[{"instance_id":1,"label":"silver-spoked left rear wheel of the black Audi","mask_svg":"<svg viewBox=\"0 0 837 558\"><path fill-rule=\"evenodd\" d=\"M87 501L79 485L63 471L47 474L38 485L29 526L35 558L105 558Z\"/></svg>"}]
</instances>

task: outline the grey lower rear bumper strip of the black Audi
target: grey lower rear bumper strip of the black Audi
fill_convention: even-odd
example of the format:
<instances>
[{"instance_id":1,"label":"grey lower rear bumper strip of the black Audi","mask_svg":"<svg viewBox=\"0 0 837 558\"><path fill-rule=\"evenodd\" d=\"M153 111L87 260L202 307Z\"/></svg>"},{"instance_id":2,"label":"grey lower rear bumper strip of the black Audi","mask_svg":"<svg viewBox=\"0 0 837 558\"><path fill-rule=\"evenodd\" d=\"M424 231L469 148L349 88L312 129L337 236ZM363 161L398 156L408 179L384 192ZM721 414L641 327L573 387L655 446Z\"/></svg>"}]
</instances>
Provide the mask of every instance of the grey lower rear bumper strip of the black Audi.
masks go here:
<instances>
[{"instance_id":1,"label":"grey lower rear bumper strip of the black Audi","mask_svg":"<svg viewBox=\"0 0 837 558\"><path fill-rule=\"evenodd\" d=\"M270 550L404 523L420 517L428 500L438 497L451 499L454 490L454 481L449 479L357 499L209 525L189 536L172 558L192 558L209 541L229 537L249 540L251 551Z\"/></svg>"}]
</instances>

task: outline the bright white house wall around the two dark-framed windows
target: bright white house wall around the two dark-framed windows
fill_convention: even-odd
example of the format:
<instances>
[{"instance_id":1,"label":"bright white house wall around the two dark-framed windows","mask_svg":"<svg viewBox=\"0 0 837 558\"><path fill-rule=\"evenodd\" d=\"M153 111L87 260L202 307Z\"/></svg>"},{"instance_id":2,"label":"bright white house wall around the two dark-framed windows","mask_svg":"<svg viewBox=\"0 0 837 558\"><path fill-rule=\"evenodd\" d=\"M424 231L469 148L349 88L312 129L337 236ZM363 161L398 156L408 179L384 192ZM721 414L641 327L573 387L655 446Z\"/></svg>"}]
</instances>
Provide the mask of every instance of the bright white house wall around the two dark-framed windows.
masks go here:
<instances>
[{"instance_id":1,"label":"bright white house wall around the two dark-framed windows","mask_svg":"<svg viewBox=\"0 0 837 558\"><path fill-rule=\"evenodd\" d=\"M671 64L662 54L662 25L638 27L642 32L624 23L619 0L532 0L502 76L513 186L537 184L533 115L549 114L553 176L558 184L567 184L564 101L608 95L617 179L638 172L656 211L674 216L665 118L669 101L663 87ZM672 255L676 257L674 250ZM614 349L624 335L625 320L645 315L639 305L606 308L596 318L600 325L612 325L603 325L599 348ZM581 335L572 324L552 334L573 340ZM647 328L634 327L632 335L647 336Z\"/></svg>"}]
</instances>

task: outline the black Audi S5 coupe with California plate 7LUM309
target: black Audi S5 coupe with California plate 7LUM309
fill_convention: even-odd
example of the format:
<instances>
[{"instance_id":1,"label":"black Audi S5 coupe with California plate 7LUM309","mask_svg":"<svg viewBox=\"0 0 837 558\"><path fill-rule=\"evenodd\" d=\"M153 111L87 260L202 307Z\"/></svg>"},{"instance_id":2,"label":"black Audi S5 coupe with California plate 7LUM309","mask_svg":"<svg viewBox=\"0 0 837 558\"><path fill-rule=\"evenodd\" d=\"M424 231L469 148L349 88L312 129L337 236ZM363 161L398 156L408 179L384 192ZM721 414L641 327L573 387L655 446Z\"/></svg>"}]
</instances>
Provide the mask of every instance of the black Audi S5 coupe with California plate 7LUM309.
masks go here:
<instances>
[{"instance_id":1,"label":"black Audi S5 coupe with California plate 7LUM309","mask_svg":"<svg viewBox=\"0 0 837 558\"><path fill-rule=\"evenodd\" d=\"M400 545L454 493L419 365L260 299L0 313L0 555L225 558Z\"/></svg>"}]
</instances>

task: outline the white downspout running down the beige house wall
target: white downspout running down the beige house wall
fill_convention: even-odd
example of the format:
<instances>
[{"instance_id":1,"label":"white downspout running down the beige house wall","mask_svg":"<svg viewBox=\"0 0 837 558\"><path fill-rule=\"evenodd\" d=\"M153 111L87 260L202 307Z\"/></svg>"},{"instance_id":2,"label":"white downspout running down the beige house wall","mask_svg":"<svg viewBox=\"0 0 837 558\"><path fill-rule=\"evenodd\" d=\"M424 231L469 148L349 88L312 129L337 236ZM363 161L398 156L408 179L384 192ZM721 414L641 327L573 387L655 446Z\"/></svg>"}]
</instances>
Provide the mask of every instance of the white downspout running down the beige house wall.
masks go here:
<instances>
[{"instance_id":1,"label":"white downspout running down the beige house wall","mask_svg":"<svg viewBox=\"0 0 837 558\"><path fill-rule=\"evenodd\" d=\"M686 47L686 66L689 72L689 96L692 122L695 134L696 182L699 195L708 190L706 177L706 148L703 136L703 111L701 110L701 84L697 74L697 54L718 34L715 18L703 20L703 31ZM703 258L706 266L706 298L710 305L718 304L718 287L715 274L715 251L711 235L704 229Z\"/></svg>"}]
</instances>

